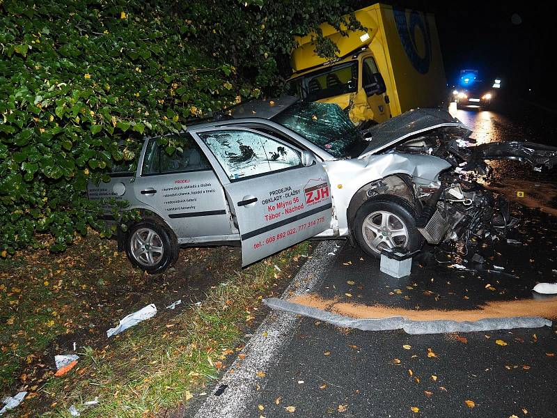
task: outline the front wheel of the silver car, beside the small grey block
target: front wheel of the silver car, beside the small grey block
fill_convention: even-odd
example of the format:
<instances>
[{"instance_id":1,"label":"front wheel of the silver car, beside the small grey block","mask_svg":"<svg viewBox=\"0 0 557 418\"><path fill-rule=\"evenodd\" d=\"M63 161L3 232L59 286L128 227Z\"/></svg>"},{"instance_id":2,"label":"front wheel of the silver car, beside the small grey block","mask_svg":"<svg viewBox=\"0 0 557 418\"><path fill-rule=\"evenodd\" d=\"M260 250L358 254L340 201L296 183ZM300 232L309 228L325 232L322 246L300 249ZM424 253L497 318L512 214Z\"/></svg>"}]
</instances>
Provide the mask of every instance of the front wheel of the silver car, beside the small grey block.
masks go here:
<instances>
[{"instance_id":1,"label":"front wheel of the silver car, beside the small grey block","mask_svg":"<svg viewBox=\"0 0 557 418\"><path fill-rule=\"evenodd\" d=\"M416 229L414 208L405 199L392 195L378 196L363 203L354 217L352 233L359 247L375 258L381 257L379 249L383 247L411 252L424 242L423 235Z\"/></svg>"}]
</instances>

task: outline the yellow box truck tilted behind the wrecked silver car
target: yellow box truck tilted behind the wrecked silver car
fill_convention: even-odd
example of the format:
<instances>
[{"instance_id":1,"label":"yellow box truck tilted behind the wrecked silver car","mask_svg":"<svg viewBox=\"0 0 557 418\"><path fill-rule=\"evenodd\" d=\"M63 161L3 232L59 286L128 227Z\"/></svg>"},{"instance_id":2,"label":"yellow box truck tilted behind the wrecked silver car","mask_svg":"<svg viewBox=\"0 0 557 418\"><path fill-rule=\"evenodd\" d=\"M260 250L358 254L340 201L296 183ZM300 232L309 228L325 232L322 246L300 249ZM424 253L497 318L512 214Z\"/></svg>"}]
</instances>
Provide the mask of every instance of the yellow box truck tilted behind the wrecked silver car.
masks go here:
<instances>
[{"instance_id":1,"label":"yellow box truck tilted behind the wrecked silver car","mask_svg":"<svg viewBox=\"0 0 557 418\"><path fill-rule=\"evenodd\" d=\"M315 54L312 34L297 38L290 56L289 94L336 103L356 125L381 123L446 101L446 79L434 16L377 3L355 12L366 31L343 36L321 24L338 47L336 59ZM345 28L343 28L345 30Z\"/></svg>"}]
</instances>

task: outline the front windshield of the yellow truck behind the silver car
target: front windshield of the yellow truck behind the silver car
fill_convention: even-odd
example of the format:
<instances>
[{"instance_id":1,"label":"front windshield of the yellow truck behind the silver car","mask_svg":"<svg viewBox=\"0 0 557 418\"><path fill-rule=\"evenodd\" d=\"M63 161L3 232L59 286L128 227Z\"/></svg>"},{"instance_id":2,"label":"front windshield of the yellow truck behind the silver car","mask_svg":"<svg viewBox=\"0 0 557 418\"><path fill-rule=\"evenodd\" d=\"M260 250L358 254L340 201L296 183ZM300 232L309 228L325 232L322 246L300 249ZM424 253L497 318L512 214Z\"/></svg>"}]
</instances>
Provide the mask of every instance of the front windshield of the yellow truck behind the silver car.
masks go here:
<instances>
[{"instance_id":1,"label":"front windshield of the yellow truck behind the silver car","mask_svg":"<svg viewBox=\"0 0 557 418\"><path fill-rule=\"evenodd\" d=\"M358 61L334 65L290 80L288 94L307 100L321 100L353 93L358 87Z\"/></svg>"}]
</instances>

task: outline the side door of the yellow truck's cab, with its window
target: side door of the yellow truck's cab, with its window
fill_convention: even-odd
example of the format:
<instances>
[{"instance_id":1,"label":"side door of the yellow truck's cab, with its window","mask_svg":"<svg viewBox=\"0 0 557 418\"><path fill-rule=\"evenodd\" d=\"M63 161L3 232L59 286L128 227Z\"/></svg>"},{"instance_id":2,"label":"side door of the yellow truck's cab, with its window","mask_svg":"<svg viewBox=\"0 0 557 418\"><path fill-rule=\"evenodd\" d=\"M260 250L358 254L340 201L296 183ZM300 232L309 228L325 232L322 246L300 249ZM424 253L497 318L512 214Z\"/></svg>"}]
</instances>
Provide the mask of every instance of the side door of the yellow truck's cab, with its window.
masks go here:
<instances>
[{"instance_id":1,"label":"side door of the yellow truck's cab, with its window","mask_svg":"<svg viewBox=\"0 0 557 418\"><path fill-rule=\"evenodd\" d=\"M368 56L362 61L362 87L368 96L368 106L373 111L373 120L377 123L391 117L391 107L387 99L385 82L375 59Z\"/></svg>"}]
</instances>

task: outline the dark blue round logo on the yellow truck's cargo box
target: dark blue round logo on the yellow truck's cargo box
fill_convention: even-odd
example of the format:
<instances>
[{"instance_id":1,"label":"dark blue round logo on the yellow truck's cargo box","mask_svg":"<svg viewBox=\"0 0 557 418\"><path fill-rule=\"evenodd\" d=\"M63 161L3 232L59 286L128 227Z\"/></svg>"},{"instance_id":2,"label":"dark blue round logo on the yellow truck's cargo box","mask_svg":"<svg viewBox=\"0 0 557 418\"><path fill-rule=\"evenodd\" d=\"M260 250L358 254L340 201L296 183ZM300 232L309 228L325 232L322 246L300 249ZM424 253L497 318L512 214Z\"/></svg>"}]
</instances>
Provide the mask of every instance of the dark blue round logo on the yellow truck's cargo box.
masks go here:
<instances>
[{"instance_id":1,"label":"dark blue round logo on the yellow truck's cargo box","mask_svg":"<svg viewBox=\"0 0 557 418\"><path fill-rule=\"evenodd\" d=\"M430 26L427 24L427 19L415 10L410 10L409 13L404 9L393 8L393 15L395 17L396 29L400 42L404 47L408 59L416 68L416 71L425 74L430 70L431 63L431 36ZM425 44L425 54L421 56L418 54L416 45L416 29L418 29Z\"/></svg>"}]
</instances>

